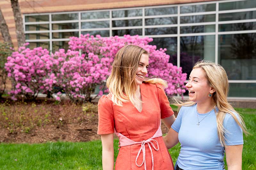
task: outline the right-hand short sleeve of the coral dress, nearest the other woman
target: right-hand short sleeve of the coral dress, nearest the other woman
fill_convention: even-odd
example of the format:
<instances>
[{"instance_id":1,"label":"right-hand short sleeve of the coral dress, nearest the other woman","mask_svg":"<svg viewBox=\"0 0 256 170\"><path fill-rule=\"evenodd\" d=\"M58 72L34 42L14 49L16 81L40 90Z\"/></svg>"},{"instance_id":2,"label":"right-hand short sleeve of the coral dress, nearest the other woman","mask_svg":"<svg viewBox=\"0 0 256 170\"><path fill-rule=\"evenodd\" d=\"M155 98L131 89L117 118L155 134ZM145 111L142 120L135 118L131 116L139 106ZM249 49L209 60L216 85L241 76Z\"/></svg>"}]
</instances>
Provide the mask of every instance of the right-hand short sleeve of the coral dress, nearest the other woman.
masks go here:
<instances>
[{"instance_id":1,"label":"right-hand short sleeve of the coral dress, nearest the other woman","mask_svg":"<svg viewBox=\"0 0 256 170\"><path fill-rule=\"evenodd\" d=\"M169 100L164 92L164 87L161 84L156 84L158 92L159 106L161 109L161 119L173 115L172 107L170 106Z\"/></svg>"}]
</instances>

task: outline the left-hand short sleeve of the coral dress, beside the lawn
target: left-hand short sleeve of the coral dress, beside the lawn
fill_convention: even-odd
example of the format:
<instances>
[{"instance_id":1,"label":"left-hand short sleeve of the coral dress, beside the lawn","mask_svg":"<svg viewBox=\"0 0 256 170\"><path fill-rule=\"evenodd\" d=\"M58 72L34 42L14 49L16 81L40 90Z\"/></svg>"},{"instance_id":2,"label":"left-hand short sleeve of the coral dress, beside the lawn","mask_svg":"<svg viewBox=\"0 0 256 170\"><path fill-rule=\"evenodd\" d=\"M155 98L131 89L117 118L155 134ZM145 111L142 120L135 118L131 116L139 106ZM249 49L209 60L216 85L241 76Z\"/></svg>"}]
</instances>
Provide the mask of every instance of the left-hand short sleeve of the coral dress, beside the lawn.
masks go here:
<instances>
[{"instance_id":1,"label":"left-hand short sleeve of the coral dress, beside the lawn","mask_svg":"<svg viewBox=\"0 0 256 170\"><path fill-rule=\"evenodd\" d=\"M111 101L107 96L101 96L98 102L98 135L114 133L114 113Z\"/></svg>"}]
</instances>

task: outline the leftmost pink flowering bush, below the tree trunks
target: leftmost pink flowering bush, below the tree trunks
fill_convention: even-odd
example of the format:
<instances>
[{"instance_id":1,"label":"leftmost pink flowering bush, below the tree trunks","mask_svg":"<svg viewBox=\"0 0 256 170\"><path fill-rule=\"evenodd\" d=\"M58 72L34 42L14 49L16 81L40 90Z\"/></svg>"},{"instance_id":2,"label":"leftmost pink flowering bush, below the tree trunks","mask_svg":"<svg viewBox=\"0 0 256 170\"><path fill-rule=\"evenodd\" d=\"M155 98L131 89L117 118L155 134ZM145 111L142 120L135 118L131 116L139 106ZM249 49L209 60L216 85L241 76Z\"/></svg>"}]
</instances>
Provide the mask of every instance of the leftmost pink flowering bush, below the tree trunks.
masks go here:
<instances>
[{"instance_id":1,"label":"leftmost pink flowering bush, below the tree trunks","mask_svg":"<svg viewBox=\"0 0 256 170\"><path fill-rule=\"evenodd\" d=\"M13 100L16 100L15 96L18 94L35 99L38 93L51 90L44 86L45 78L52 73L49 51L42 47L29 49L25 46L7 57L5 63L8 77L12 78L12 90L9 93Z\"/></svg>"}]
</instances>

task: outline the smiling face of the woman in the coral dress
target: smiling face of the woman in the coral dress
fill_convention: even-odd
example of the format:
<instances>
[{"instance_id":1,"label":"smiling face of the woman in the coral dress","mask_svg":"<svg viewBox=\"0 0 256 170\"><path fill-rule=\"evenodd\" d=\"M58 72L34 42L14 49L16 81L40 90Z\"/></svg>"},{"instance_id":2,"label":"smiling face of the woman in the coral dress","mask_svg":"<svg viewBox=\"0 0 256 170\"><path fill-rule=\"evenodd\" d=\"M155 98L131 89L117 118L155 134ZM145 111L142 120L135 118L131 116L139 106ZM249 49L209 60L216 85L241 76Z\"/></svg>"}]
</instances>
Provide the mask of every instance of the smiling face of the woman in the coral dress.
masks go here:
<instances>
[{"instance_id":1,"label":"smiling face of the woman in the coral dress","mask_svg":"<svg viewBox=\"0 0 256 170\"><path fill-rule=\"evenodd\" d=\"M148 55L142 54L140 57L140 62L138 70L136 72L135 82L136 85L141 85L144 77L148 73Z\"/></svg>"}]
</instances>

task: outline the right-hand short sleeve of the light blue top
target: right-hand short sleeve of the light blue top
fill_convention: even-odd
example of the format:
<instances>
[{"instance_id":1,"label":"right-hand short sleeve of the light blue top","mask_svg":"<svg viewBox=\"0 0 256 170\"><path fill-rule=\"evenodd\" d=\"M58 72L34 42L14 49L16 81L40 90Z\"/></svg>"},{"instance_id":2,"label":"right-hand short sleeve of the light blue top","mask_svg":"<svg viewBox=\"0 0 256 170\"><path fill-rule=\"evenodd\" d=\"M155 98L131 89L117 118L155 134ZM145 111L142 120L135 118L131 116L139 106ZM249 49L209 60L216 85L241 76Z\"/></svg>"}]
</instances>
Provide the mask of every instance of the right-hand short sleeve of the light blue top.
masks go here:
<instances>
[{"instance_id":1,"label":"right-hand short sleeve of the light blue top","mask_svg":"<svg viewBox=\"0 0 256 170\"><path fill-rule=\"evenodd\" d=\"M238 118L237 114L236 114L236 117ZM225 128L224 137L226 138L226 140L225 140L226 145L244 144L243 130L236 123L236 121L232 117L232 115L226 114L223 125L224 125L224 128Z\"/></svg>"}]
</instances>

